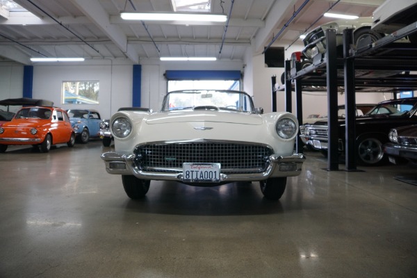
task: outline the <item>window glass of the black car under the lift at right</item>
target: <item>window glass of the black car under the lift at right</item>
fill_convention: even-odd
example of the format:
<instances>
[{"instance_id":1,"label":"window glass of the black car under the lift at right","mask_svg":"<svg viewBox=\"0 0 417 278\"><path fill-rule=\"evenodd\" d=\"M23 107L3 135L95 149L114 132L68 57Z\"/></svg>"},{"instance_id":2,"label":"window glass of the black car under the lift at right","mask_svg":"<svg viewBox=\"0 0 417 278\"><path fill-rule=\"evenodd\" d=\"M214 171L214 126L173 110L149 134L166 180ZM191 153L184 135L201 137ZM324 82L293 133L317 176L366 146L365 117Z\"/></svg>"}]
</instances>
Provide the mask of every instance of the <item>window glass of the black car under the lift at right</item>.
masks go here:
<instances>
[{"instance_id":1,"label":"window glass of the black car under the lift at right","mask_svg":"<svg viewBox=\"0 0 417 278\"><path fill-rule=\"evenodd\" d=\"M397 99L389 102L383 102L375 106L371 111L366 113L367 116L388 115L388 116L402 116L407 112L413 110L416 106L415 99Z\"/></svg>"}]
</instances>

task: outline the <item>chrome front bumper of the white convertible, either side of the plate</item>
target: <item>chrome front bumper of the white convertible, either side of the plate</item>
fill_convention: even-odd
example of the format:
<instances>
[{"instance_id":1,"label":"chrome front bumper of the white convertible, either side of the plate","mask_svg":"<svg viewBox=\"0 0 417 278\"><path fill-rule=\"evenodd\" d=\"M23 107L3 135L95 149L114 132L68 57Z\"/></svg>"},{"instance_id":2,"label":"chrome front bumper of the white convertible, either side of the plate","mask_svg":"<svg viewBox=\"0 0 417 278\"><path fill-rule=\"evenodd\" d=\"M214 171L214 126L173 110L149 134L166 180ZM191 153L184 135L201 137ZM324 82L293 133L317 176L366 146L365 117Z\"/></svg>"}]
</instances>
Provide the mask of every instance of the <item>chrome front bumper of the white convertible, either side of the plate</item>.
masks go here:
<instances>
[{"instance_id":1,"label":"chrome front bumper of the white convertible, either side of the plate","mask_svg":"<svg viewBox=\"0 0 417 278\"><path fill-rule=\"evenodd\" d=\"M106 163L106 171L109 174L134 175L138 179L161 180L161 181L183 181L183 173L179 172L145 172L133 163L133 154L120 154L117 152L106 152L101 154L101 159ZM244 174L220 174L220 182L233 181L261 181L269 177L295 177L301 174L302 163L305 160L304 154L293 154L292 156L272 155L268 160L268 167L261 173Z\"/></svg>"}]
</instances>

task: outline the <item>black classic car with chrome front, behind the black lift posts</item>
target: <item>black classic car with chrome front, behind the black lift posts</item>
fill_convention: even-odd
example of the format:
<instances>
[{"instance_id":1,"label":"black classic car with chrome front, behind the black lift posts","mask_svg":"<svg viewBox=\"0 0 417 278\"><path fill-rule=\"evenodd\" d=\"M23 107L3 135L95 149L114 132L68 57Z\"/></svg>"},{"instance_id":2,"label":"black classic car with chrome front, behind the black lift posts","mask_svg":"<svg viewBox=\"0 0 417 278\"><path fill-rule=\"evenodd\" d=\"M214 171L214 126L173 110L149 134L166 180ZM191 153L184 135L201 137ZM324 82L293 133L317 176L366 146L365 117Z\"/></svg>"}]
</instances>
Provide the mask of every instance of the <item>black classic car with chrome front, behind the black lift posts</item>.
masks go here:
<instances>
[{"instance_id":1,"label":"black classic car with chrome front, behind the black lift posts","mask_svg":"<svg viewBox=\"0 0 417 278\"><path fill-rule=\"evenodd\" d=\"M356 152L361 165L380 165L388 161L383 145L389 131L398 126L417 124L417 97L382 101L362 117L356 117ZM313 149L327 155L327 120L300 126L300 137ZM345 152L345 120L338 120L338 151Z\"/></svg>"}]
</instances>

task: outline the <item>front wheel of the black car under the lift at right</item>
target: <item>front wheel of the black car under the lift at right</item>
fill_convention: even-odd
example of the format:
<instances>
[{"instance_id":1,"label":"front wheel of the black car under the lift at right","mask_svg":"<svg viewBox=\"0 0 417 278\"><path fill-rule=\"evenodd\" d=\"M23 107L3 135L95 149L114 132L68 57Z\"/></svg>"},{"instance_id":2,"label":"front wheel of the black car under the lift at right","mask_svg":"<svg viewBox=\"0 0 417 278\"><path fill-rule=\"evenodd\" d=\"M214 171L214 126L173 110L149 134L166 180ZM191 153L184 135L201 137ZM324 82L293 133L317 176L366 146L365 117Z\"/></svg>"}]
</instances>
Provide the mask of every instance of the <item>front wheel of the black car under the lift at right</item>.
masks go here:
<instances>
[{"instance_id":1,"label":"front wheel of the black car under the lift at right","mask_svg":"<svg viewBox=\"0 0 417 278\"><path fill-rule=\"evenodd\" d=\"M358 160L364 166L376 166L386 162L382 142L378 138L362 138L358 142Z\"/></svg>"}]
</instances>

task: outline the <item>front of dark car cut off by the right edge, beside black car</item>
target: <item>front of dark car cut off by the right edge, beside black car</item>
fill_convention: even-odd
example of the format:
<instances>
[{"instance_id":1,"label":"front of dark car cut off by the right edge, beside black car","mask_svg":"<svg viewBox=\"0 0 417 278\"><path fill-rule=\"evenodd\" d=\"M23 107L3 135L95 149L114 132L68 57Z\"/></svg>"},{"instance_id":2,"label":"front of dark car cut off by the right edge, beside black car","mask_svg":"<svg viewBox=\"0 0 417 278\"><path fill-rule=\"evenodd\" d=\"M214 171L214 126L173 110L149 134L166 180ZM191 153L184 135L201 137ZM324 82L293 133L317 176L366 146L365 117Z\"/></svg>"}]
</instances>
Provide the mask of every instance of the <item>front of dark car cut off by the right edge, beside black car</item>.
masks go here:
<instances>
[{"instance_id":1,"label":"front of dark car cut off by the right edge, beside black car","mask_svg":"<svg viewBox=\"0 0 417 278\"><path fill-rule=\"evenodd\" d=\"M398 164L406 159L417 165L417 124L391 129L389 140L391 142L384 145L384 152L391 163Z\"/></svg>"}]
</instances>

